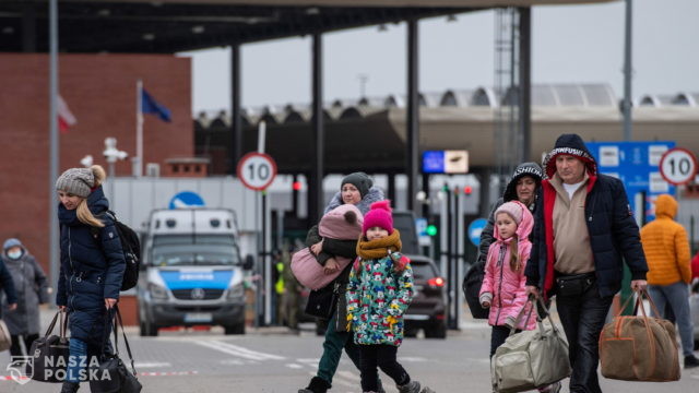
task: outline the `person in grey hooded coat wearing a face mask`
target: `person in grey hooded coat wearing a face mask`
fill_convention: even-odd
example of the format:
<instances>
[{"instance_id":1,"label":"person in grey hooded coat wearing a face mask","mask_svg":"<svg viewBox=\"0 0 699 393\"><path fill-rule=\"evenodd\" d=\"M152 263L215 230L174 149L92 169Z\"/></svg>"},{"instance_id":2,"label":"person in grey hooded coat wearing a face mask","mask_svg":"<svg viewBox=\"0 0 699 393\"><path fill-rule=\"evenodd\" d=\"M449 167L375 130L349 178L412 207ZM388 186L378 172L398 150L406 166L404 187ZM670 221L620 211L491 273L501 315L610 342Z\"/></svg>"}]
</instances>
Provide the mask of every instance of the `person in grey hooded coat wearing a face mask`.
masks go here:
<instances>
[{"instance_id":1,"label":"person in grey hooded coat wearing a face mask","mask_svg":"<svg viewBox=\"0 0 699 393\"><path fill-rule=\"evenodd\" d=\"M12 276L17 295L14 305L7 300L2 302L3 321L12 337L10 355L23 356L39 337L39 305L48 302L48 282L42 266L20 240L5 240L2 250L2 262ZM8 312L11 307L14 311Z\"/></svg>"}]
</instances>

